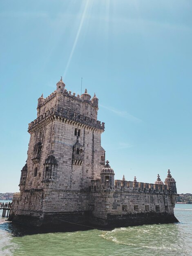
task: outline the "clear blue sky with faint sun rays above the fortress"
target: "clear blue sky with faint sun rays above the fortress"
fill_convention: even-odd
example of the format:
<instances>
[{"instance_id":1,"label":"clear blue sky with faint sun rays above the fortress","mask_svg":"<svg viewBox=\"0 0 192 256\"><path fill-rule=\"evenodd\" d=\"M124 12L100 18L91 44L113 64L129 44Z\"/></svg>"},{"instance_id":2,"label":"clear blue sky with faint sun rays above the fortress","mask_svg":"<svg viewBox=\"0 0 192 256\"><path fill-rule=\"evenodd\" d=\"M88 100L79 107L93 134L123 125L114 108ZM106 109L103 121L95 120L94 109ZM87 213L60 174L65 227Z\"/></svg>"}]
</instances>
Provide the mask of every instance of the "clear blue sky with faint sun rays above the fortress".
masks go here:
<instances>
[{"instance_id":1,"label":"clear blue sky with faint sun rays above the fortress","mask_svg":"<svg viewBox=\"0 0 192 256\"><path fill-rule=\"evenodd\" d=\"M37 99L63 76L99 99L115 179L192 193L192 2L0 2L0 192L18 191Z\"/></svg>"}]
</instances>

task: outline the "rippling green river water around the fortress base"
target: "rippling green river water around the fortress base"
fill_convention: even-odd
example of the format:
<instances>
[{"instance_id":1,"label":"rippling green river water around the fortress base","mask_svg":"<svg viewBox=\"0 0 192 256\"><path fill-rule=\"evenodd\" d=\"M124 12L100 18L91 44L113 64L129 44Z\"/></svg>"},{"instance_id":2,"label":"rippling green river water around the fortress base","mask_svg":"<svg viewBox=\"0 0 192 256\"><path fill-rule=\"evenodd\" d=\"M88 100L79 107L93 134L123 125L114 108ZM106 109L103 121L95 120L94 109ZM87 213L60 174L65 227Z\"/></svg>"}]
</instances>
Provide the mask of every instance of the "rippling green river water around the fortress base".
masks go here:
<instances>
[{"instance_id":1,"label":"rippling green river water around the fortress base","mask_svg":"<svg viewBox=\"0 0 192 256\"><path fill-rule=\"evenodd\" d=\"M0 217L0 255L192 256L192 204L176 204L174 212L179 223L22 236Z\"/></svg>"}]
</instances>

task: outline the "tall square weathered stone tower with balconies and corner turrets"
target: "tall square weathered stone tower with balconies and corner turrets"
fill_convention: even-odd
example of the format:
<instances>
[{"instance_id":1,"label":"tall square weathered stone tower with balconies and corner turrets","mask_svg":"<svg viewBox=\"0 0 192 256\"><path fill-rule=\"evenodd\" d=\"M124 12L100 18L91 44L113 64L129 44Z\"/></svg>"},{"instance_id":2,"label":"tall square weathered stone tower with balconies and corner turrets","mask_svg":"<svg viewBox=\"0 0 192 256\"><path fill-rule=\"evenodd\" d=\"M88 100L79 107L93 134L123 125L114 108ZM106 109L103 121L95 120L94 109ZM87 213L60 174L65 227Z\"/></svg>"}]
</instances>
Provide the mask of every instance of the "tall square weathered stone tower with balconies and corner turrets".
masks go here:
<instances>
[{"instance_id":1,"label":"tall square weathered stone tower with balconies and corner turrets","mask_svg":"<svg viewBox=\"0 0 192 256\"><path fill-rule=\"evenodd\" d=\"M17 216L44 219L48 212L89 210L91 180L100 179L105 163L98 98L91 99L87 89L81 96L67 92L62 78L56 86L46 99L38 99L37 119L29 124Z\"/></svg>"}]
</instances>

